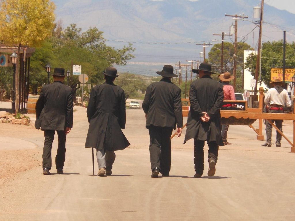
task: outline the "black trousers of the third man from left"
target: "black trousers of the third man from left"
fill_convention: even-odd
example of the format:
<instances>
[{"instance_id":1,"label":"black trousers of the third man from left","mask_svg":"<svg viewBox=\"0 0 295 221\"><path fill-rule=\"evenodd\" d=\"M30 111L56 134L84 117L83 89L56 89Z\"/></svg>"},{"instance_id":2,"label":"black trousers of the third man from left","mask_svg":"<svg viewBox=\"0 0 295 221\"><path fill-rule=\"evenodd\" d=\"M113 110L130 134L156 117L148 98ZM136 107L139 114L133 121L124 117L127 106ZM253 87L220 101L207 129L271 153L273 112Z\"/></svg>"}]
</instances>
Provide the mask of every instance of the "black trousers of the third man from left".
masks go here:
<instances>
[{"instance_id":1,"label":"black trousers of the third man from left","mask_svg":"<svg viewBox=\"0 0 295 221\"><path fill-rule=\"evenodd\" d=\"M150 165L160 169L161 174L169 174L171 169L171 134L173 128L150 126Z\"/></svg>"}]
</instances>

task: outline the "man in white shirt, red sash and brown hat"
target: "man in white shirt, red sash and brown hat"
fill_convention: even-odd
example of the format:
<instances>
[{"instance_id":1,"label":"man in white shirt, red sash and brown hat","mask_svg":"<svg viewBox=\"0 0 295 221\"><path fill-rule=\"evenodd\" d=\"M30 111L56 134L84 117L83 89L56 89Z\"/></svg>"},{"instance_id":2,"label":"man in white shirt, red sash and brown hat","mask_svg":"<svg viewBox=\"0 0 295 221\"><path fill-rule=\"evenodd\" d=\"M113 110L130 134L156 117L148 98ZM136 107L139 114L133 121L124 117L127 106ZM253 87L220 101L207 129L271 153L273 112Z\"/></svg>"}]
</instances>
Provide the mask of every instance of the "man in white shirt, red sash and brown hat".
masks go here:
<instances>
[{"instance_id":1,"label":"man in white shirt, red sash and brown hat","mask_svg":"<svg viewBox=\"0 0 295 221\"><path fill-rule=\"evenodd\" d=\"M291 100L288 92L283 88L285 83L279 79L270 82L273 88L268 89L266 92L264 103L269 113L283 113L285 106L291 107ZM276 127L283 132L283 120L271 120L276 122ZM269 121L266 121L266 142L261 146L271 146L271 130L273 126ZM282 135L277 131L276 134L276 147L281 147Z\"/></svg>"}]
</instances>

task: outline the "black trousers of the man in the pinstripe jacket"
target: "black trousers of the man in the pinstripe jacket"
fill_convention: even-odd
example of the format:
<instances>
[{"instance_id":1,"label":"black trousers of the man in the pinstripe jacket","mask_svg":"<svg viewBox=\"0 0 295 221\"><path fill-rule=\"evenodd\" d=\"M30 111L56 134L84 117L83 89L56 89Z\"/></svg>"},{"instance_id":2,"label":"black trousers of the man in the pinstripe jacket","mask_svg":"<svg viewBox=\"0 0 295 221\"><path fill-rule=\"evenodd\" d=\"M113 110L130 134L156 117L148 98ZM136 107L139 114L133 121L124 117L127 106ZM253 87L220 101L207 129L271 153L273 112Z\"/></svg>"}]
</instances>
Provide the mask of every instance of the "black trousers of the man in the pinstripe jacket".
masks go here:
<instances>
[{"instance_id":1,"label":"black trousers of the man in the pinstripe jacket","mask_svg":"<svg viewBox=\"0 0 295 221\"><path fill-rule=\"evenodd\" d=\"M65 163L65 139L67 135L65 131L56 131L58 136L58 148L57 154L55 156L55 166L56 169L63 169L63 165ZM44 147L42 154L42 167L51 169L51 148L54 139L55 130L44 130Z\"/></svg>"}]
</instances>

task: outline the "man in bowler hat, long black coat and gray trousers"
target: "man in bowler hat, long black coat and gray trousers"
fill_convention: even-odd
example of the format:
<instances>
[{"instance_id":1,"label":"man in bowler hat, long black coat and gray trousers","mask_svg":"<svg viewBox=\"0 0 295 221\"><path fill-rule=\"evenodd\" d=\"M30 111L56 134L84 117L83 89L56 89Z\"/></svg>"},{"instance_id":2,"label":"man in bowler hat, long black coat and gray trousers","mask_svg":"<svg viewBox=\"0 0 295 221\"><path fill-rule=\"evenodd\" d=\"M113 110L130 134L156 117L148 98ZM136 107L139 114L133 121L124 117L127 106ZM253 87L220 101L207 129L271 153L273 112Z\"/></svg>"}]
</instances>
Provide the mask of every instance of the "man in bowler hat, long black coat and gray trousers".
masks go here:
<instances>
[{"instance_id":1,"label":"man in bowler hat, long black coat and gray trousers","mask_svg":"<svg viewBox=\"0 0 295 221\"><path fill-rule=\"evenodd\" d=\"M92 89L87 106L89 129L85 147L96 149L99 177L112 174L114 151L130 145L121 130L125 128L126 110L124 90L114 85L118 76L116 68L107 67L106 81Z\"/></svg>"}]
</instances>

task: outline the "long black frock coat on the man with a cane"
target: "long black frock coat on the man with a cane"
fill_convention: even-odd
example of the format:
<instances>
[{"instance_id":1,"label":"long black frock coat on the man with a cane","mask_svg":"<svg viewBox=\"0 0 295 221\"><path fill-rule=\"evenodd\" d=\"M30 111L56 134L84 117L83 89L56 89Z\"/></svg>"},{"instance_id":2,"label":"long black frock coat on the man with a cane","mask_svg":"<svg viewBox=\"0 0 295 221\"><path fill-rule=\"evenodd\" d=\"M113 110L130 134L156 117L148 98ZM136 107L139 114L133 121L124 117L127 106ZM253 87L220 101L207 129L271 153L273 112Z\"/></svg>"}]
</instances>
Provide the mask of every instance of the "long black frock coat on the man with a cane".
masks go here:
<instances>
[{"instance_id":1,"label":"long black frock coat on the man with a cane","mask_svg":"<svg viewBox=\"0 0 295 221\"><path fill-rule=\"evenodd\" d=\"M122 150L130 145L121 129L125 128L124 90L112 82L96 85L87 106L89 129L85 147L109 151Z\"/></svg>"}]
</instances>

